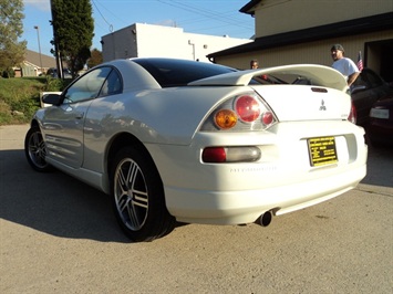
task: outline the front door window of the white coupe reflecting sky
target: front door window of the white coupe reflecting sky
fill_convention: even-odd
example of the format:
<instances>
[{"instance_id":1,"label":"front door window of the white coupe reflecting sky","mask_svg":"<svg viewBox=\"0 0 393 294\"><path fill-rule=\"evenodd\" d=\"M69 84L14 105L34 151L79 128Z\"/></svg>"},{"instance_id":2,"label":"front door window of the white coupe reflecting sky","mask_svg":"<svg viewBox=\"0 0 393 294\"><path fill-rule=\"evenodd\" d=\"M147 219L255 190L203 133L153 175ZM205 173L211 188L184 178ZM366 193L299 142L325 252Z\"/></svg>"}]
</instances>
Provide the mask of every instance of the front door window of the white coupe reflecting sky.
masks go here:
<instances>
[{"instance_id":1,"label":"front door window of the white coupe reflecting sky","mask_svg":"<svg viewBox=\"0 0 393 294\"><path fill-rule=\"evenodd\" d=\"M111 71L111 67L99 67L79 78L64 93L64 103L95 98Z\"/></svg>"}]
</instances>

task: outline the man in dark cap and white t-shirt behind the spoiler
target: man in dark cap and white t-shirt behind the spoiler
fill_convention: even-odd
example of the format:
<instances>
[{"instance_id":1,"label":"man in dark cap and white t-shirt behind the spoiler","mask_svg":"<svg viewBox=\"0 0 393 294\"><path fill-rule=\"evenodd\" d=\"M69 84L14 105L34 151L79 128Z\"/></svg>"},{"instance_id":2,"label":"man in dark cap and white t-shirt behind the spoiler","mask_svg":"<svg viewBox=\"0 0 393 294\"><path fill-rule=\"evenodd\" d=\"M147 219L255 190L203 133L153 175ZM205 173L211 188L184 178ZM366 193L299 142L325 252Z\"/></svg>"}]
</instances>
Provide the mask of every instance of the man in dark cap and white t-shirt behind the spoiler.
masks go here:
<instances>
[{"instance_id":1,"label":"man in dark cap and white t-shirt behind the spoiler","mask_svg":"<svg viewBox=\"0 0 393 294\"><path fill-rule=\"evenodd\" d=\"M344 48L341 44L334 44L330 49L333 59L332 67L339 71L345 78L349 86L353 84L360 74L360 71L351 59L344 56Z\"/></svg>"}]
</instances>

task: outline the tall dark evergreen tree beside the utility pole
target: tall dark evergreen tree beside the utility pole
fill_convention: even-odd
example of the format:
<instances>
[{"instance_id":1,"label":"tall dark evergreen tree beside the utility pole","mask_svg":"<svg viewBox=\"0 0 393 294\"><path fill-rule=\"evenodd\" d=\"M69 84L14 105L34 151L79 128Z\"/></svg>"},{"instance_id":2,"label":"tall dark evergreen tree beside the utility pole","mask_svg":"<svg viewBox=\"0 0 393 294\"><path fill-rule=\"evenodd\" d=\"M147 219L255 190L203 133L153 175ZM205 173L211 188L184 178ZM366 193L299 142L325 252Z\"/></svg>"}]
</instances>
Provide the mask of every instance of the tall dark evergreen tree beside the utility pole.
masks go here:
<instances>
[{"instance_id":1,"label":"tall dark evergreen tree beside the utility pole","mask_svg":"<svg viewBox=\"0 0 393 294\"><path fill-rule=\"evenodd\" d=\"M61 61L65 61L72 76L84 67L90 59L94 36L94 20L90 0L51 0L53 40ZM52 53L56 54L55 51Z\"/></svg>"}]
</instances>

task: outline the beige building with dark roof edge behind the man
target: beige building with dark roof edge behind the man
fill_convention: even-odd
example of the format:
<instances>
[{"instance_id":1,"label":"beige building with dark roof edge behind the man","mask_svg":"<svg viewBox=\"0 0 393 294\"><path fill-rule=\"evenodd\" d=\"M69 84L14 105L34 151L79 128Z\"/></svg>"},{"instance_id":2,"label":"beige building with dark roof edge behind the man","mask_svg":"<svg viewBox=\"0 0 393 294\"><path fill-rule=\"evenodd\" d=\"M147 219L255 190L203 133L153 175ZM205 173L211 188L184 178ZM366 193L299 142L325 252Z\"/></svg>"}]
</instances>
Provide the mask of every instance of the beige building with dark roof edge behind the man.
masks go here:
<instances>
[{"instance_id":1,"label":"beige building with dark roof edge behind the man","mask_svg":"<svg viewBox=\"0 0 393 294\"><path fill-rule=\"evenodd\" d=\"M208 54L219 64L249 69L296 63L331 65L330 48L393 81L393 0L252 0L240 12L255 18L252 43Z\"/></svg>"}]
</instances>

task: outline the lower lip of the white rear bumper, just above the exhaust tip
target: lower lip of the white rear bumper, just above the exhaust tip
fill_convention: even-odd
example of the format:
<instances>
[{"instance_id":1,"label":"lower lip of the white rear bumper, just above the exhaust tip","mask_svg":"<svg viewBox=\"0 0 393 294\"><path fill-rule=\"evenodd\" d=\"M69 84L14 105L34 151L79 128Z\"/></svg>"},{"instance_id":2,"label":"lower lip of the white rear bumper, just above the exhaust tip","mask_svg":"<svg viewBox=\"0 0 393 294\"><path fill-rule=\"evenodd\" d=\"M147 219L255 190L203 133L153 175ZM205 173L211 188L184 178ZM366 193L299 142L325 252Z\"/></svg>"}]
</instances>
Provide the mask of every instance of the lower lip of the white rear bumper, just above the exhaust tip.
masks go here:
<instances>
[{"instance_id":1,"label":"lower lip of the white rear bumper, just above the exhaust tip","mask_svg":"<svg viewBox=\"0 0 393 294\"><path fill-rule=\"evenodd\" d=\"M209 224L255 222L266 211L276 216L303 209L353 188L364 178L366 166L347 172L260 190L206 191L165 187L169 212L178 221Z\"/></svg>"}]
</instances>

